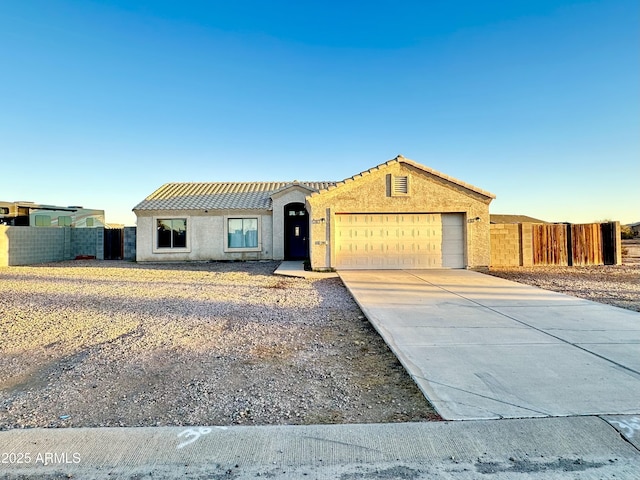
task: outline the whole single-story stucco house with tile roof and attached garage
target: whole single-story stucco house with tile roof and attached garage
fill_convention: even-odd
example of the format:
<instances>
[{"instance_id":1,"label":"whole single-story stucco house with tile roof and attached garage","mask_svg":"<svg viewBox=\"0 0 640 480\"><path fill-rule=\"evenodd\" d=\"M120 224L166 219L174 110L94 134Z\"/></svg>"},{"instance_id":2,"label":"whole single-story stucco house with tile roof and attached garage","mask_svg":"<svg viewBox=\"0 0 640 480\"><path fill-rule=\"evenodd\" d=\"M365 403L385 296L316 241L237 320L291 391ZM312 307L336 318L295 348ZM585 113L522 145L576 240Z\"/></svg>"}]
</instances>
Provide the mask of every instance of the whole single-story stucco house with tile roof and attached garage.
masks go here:
<instances>
[{"instance_id":1,"label":"whole single-story stucco house with tile roof and attached garage","mask_svg":"<svg viewBox=\"0 0 640 480\"><path fill-rule=\"evenodd\" d=\"M133 209L137 260L486 267L494 198L402 156L341 182L168 183Z\"/></svg>"}]
</instances>

